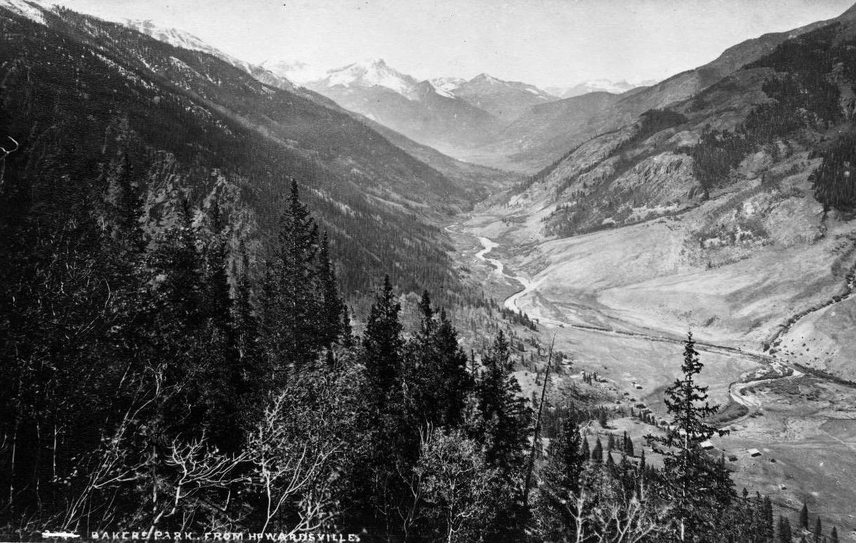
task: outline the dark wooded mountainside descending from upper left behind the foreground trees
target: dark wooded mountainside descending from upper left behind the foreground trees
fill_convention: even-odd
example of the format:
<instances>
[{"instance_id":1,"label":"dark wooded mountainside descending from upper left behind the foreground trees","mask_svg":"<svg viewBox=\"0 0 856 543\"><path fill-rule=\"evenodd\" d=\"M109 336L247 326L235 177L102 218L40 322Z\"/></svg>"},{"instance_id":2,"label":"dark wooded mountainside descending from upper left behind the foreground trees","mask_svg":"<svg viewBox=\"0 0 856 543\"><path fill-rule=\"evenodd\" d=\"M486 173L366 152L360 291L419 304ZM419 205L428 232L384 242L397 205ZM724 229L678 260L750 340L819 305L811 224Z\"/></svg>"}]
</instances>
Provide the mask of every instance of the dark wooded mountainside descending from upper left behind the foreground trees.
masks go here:
<instances>
[{"instance_id":1,"label":"dark wooded mountainside descending from upper left behind the foreground trees","mask_svg":"<svg viewBox=\"0 0 856 543\"><path fill-rule=\"evenodd\" d=\"M205 52L12 1L19 9L0 7L0 137L21 152L4 162L7 195L39 194L25 187L46 170L86 186L127 155L146 227L170 221L184 199L199 210L217 200L235 224L232 244L261 258L294 177L340 264L363 272L340 278L346 292L383 272L405 290L454 286L431 222L472 195L352 115Z\"/></svg>"}]
</instances>

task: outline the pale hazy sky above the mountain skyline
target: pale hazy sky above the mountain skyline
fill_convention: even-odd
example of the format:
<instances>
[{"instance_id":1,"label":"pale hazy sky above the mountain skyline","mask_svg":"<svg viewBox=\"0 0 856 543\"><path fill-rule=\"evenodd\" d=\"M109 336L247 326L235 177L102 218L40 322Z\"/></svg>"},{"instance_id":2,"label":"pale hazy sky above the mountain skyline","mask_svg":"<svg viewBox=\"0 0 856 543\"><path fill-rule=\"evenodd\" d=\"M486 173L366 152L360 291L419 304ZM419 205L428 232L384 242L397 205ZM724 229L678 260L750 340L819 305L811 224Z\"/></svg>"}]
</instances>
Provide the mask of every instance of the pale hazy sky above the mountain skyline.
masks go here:
<instances>
[{"instance_id":1,"label":"pale hazy sky above the mountain skyline","mask_svg":"<svg viewBox=\"0 0 856 543\"><path fill-rule=\"evenodd\" d=\"M663 79L854 0L55 0L152 19L250 62L381 57L419 79L486 72L538 86Z\"/></svg>"}]
</instances>

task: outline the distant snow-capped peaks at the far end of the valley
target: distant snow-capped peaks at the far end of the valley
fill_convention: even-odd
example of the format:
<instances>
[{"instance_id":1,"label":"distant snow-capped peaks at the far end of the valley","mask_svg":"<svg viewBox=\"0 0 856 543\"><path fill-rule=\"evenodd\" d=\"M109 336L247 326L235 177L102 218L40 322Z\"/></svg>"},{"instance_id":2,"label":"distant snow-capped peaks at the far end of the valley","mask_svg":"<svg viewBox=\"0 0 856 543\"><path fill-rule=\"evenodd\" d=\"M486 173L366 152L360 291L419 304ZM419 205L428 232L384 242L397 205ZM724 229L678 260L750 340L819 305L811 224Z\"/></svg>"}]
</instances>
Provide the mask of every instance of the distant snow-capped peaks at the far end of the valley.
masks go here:
<instances>
[{"instance_id":1,"label":"distant snow-capped peaks at the far end of the valley","mask_svg":"<svg viewBox=\"0 0 856 543\"><path fill-rule=\"evenodd\" d=\"M390 67L383 59L367 59L319 74L301 62L265 62L263 68L329 97L345 109L366 115L421 144L451 156L490 166L531 168L490 156L508 127L535 115L544 104L592 92L618 95L641 85L626 81L591 80L545 91L517 81L479 74L471 80L443 77L417 80ZM525 141L526 138L521 139ZM484 156L487 150L489 156Z\"/></svg>"}]
</instances>

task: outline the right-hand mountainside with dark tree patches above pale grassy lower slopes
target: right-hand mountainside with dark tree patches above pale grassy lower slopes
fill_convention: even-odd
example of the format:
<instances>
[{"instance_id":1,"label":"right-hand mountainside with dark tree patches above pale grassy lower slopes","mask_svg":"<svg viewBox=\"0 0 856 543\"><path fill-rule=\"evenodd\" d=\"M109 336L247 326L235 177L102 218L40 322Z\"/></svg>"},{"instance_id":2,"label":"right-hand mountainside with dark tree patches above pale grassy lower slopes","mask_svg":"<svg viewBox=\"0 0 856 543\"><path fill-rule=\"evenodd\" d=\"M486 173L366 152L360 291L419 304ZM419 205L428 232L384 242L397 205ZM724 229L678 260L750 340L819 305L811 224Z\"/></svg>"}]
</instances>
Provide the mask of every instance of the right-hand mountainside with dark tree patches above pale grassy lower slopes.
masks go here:
<instances>
[{"instance_id":1,"label":"right-hand mountainside with dark tree patches above pale grassy lower slopes","mask_svg":"<svg viewBox=\"0 0 856 543\"><path fill-rule=\"evenodd\" d=\"M854 48L847 17L802 33L521 185L497 211L519 222L509 239L557 238L523 261L544 270L546 298L597 292L598 311L634 326L680 333L691 319L716 341L773 351L800 321L826 342L801 363L856 377L849 344L832 339L852 312L827 309L847 299L856 263ZM592 252L596 240L607 245Z\"/></svg>"}]
</instances>

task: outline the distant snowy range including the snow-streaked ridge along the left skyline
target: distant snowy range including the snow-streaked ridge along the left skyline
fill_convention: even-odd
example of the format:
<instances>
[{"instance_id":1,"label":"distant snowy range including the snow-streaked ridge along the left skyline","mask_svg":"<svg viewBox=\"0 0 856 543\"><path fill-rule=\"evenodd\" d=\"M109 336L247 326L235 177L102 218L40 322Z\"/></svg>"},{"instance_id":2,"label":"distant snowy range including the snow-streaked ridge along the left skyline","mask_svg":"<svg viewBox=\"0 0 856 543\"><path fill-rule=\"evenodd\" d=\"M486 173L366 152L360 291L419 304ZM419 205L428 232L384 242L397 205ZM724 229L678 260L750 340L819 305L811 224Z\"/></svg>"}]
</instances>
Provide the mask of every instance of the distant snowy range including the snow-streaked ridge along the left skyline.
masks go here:
<instances>
[{"instance_id":1,"label":"distant snowy range including the snow-streaked ridge along the left skyline","mask_svg":"<svg viewBox=\"0 0 856 543\"><path fill-rule=\"evenodd\" d=\"M8 1L10 5L29 5L23 0ZM175 47L216 56L267 85L325 107L338 106L362 115L413 140L413 145L428 145L467 162L520 173L532 173L555 160L575 141L568 138L568 133L576 135L574 127L580 120L600 111L604 103L614 102L613 98L621 93L629 95L645 88L626 81L591 80L571 87L551 87L548 92L488 74L471 80L418 80L390 67L383 59L366 59L326 71L303 62L269 61L257 65L223 53L188 32L158 27L152 21L122 23ZM650 81L640 85L645 83ZM565 103L568 97L582 97L583 102ZM556 109L544 109L550 103L555 103ZM591 109L591 103L597 107ZM580 105L584 108L578 111ZM556 126L557 130L550 128ZM427 159L436 155L421 156ZM445 162L437 162L440 163Z\"/></svg>"}]
</instances>

